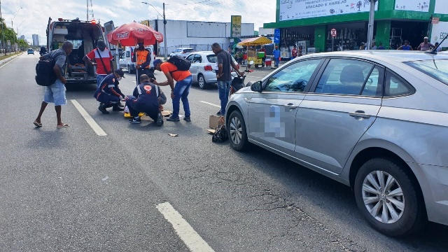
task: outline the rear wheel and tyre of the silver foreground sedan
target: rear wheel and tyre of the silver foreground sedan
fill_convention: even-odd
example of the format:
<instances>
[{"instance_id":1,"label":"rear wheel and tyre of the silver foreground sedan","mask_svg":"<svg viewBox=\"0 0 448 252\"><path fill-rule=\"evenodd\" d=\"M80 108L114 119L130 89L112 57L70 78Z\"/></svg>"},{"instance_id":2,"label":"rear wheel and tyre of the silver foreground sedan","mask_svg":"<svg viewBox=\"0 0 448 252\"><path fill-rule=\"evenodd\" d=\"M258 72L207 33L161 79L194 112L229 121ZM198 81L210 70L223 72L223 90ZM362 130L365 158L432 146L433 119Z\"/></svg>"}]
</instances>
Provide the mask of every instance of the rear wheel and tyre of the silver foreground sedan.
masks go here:
<instances>
[{"instance_id":1,"label":"rear wheel and tyre of the silver foreground sedan","mask_svg":"<svg viewBox=\"0 0 448 252\"><path fill-rule=\"evenodd\" d=\"M385 235L409 235L426 223L423 197L403 166L374 158L356 174L356 204L367 222Z\"/></svg>"}]
</instances>

